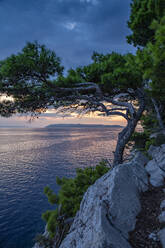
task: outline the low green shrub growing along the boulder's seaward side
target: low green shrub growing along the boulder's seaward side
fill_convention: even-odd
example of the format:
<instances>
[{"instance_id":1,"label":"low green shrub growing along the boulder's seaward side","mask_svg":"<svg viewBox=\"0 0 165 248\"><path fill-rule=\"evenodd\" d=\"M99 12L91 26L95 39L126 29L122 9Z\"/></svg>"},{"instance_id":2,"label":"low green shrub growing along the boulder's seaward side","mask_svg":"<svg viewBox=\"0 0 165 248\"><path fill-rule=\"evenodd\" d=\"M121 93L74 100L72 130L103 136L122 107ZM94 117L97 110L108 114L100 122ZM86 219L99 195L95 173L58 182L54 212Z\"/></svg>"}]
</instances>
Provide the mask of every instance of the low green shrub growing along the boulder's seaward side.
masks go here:
<instances>
[{"instance_id":1,"label":"low green shrub growing along the boulder's seaward side","mask_svg":"<svg viewBox=\"0 0 165 248\"><path fill-rule=\"evenodd\" d=\"M56 182L61 187L58 195L54 194L48 186L45 187L44 193L48 197L48 201L53 205L58 205L55 210L48 210L42 215L47 222L47 229L51 237L55 235L60 224L60 216L64 216L64 219L74 217L88 187L108 170L106 163L102 161L96 167L77 169L75 178L60 179L57 177Z\"/></svg>"}]
</instances>

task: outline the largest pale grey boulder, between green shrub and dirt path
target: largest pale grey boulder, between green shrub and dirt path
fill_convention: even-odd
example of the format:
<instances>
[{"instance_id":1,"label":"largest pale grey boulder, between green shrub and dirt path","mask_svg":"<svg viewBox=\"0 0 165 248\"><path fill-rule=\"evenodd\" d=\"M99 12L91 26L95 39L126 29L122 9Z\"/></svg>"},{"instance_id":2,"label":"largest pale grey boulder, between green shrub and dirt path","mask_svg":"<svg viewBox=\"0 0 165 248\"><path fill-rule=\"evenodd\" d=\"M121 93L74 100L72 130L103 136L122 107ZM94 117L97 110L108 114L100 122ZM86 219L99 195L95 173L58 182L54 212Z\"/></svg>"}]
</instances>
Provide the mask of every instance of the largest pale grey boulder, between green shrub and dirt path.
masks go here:
<instances>
[{"instance_id":1,"label":"largest pale grey boulder, between green shrub and dirt path","mask_svg":"<svg viewBox=\"0 0 165 248\"><path fill-rule=\"evenodd\" d=\"M148 189L146 163L137 153L89 187L60 248L130 248L128 232L141 210L139 193Z\"/></svg>"}]
</instances>

